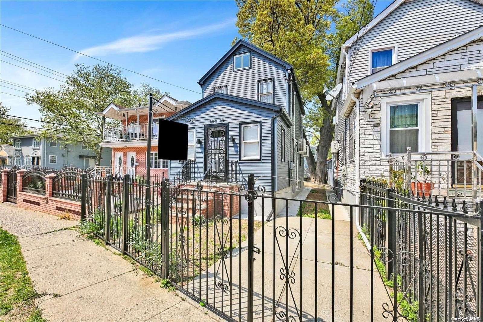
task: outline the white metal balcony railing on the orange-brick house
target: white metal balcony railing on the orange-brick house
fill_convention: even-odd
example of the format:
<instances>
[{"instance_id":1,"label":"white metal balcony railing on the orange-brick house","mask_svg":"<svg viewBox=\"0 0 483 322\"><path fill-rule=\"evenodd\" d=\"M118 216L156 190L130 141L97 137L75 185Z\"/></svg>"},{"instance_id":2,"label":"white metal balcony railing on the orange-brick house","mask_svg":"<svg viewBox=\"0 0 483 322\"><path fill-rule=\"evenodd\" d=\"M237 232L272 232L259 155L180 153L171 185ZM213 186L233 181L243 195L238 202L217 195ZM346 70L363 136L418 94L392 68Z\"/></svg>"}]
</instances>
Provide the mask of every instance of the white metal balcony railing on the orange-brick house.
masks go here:
<instances>
[{"instance_id":1,"label":"white metal balcony railing on the orange-brick house","mask_svg":"<svg viewBox=\"0 0 483 322\"><path fill-rule=\"evenodd\" d=\"M153 124L153 131L151 138L158 138L157 124ZM139 123L131 125L113 125L104 129L104 142L117 142L117 141L138 141L147 140L148 138L148 124Z\"/></svg>"}]
</instances>

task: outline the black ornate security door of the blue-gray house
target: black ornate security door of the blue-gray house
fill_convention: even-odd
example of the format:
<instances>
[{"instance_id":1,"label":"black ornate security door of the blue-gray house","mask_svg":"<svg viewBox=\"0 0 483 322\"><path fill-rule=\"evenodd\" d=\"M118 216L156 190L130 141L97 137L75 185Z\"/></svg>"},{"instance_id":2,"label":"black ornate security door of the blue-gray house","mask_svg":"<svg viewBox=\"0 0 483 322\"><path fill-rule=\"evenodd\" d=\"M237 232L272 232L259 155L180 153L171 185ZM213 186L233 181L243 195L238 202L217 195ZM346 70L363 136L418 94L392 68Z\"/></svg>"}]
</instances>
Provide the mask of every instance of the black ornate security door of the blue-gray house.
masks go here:
<instances>
[{"instance_id":1,"label":"black ornate security door of the blue-gray house","mask_svg":"<svg viewBox=\"0 0 483 322\"><path fill-rule=\"evenodd\" d=\"M226 178L227 160L227 125L208 126L205 129L205 171L209 171L211 178Z\"/></svg>"}]
</instances>

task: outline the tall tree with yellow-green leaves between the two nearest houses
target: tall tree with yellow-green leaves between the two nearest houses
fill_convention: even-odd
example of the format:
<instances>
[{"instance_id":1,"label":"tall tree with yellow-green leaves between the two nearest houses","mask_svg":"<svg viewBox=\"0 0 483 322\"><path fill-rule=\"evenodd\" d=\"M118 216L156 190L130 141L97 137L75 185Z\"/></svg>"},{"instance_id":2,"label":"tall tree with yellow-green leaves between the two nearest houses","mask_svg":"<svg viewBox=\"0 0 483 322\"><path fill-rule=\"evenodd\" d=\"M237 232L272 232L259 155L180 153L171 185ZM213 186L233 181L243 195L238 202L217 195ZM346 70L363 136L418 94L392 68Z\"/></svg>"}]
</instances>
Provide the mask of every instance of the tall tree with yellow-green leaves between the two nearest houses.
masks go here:
<instances>
[{"instance_id":1,"label":"tall tree with yellow-green leaves between the two nearest houses","mask_svg":"<svg viewBox=\"0 0 483 322\"><path fill-rule=\"evenodd\" d=\"M307 111L305 129L317 145L307 159L311 181L326 183L326 160L334 137L335 111L324 88L335 85L341 44L372 18L369 0L237 0L240 35L294 66ZM310 149L309 149L310 151Z\"/></svg>"}]
</instances>

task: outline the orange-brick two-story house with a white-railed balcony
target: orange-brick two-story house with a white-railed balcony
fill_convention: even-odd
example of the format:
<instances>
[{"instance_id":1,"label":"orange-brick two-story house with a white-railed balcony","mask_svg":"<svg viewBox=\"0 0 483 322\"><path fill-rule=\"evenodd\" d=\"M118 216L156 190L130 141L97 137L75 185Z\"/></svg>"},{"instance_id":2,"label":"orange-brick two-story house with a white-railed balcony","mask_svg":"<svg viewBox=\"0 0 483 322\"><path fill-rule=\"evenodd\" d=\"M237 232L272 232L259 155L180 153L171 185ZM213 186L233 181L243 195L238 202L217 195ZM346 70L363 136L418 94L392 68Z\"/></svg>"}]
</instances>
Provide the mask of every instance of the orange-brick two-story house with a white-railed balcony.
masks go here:
<instances>
[{"instance_id":1,"label":"orange-brick two-story house with a white-railed balcony","mask_svg":"<svg viewBox=\"0 0 483 322\"><path fill-rule=\"evenodd\" d=\"M152 176L167 177L168 161L157 158L157 122L158 119L170 117L191 103L178 101L168 95L163 95L158 101L153 104L152 152L149 164ZM105 127L103 142L100 144L112 148L113 174L116 176L146 175L148 109L147 105L126 107L111 103L102 112L97 113L119 121L118 125Z\"/></svg>"}]
</instances>

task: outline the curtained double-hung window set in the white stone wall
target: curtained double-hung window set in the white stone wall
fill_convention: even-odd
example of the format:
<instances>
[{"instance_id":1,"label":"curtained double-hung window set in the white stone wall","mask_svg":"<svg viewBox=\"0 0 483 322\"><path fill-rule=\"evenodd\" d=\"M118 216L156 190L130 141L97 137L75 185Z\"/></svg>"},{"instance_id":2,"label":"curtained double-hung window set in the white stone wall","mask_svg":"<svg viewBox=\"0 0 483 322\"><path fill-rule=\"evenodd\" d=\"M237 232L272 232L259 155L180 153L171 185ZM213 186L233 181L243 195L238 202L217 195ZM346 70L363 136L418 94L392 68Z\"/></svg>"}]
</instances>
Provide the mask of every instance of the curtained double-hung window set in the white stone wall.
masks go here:
<instances>
[{"instance_id":1,"label":"curtained double-hung window set in the white stone wall","mask_svg":"<svg viewBox=\"0 0 483 322\"><path fill-rule=\"evenodd\" d=\"M419 151L419 103L389 105L389 152Z\"/></svg>"}]
</instances>

